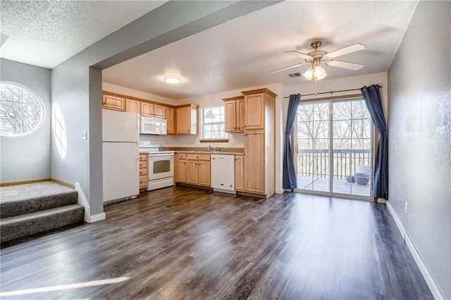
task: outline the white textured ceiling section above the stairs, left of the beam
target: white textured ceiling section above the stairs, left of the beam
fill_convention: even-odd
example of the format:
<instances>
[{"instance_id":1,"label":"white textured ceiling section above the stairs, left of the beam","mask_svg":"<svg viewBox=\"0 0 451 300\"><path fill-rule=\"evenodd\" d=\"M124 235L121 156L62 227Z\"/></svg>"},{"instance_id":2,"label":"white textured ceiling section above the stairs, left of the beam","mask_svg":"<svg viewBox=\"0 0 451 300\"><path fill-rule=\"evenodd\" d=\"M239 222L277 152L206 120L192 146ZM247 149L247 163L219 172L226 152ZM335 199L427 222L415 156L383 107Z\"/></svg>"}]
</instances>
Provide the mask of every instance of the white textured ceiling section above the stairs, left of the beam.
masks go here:
<instances>
[{"instance_id":1,"label":"white textured ceiling section above the stairs, left of the beam","mask_svg":"<svg viewBox=\"0 0 451 300\"><path fill-rule=\"evenodd\" d=\"M165 1L0 1L0 57L54 68Z\"/></svg>"}]
</instances>

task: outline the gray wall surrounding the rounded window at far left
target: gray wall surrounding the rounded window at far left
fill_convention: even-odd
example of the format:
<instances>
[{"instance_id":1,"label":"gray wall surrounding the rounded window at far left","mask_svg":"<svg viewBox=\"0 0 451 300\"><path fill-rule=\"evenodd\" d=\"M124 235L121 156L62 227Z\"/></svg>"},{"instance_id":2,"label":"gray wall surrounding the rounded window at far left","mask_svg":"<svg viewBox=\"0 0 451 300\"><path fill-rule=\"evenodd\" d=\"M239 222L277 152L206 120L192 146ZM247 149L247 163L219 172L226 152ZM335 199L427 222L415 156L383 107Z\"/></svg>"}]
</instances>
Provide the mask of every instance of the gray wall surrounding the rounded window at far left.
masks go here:
<instances>
[{"instance_id":1,"label":"gray wall surrounding the rounded window at far left","mask_svg":"<svg viewBox=\"0 0 451 300\"><path fill-rule=\"evenodd\" d=\"M0 182L50 178L50 70L0 58L0 80L32 89L45 107L44 123L22 137L0 138Z\"/></svg>"}]
</instances>

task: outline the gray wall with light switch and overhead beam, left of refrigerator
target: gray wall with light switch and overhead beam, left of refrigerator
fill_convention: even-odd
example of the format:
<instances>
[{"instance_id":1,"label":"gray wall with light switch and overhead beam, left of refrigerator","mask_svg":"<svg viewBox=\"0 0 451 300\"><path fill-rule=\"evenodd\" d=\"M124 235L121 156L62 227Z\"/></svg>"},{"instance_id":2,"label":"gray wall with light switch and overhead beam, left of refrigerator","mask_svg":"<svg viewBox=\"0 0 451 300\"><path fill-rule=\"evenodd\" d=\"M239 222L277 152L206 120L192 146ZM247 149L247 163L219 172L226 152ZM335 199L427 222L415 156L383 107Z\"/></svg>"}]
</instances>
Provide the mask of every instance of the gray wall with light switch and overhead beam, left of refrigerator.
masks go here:
<instances>
[{"instance_id":1,"label":"gray wall with light switch and overhead beam, left of refrigerator","mask_svg":"<svg viewBox=\"0 0 451 300\"><path fill-rule=\"evenodd\" d=\"M61 63L51 73L51 100L67 129L67 154L51 149L51 177L79 182L91 215L103 212L101 69L237 18L276 1L168 1ZM87 130L88 140L82 140Z\"/></svg>"}]
</instances>

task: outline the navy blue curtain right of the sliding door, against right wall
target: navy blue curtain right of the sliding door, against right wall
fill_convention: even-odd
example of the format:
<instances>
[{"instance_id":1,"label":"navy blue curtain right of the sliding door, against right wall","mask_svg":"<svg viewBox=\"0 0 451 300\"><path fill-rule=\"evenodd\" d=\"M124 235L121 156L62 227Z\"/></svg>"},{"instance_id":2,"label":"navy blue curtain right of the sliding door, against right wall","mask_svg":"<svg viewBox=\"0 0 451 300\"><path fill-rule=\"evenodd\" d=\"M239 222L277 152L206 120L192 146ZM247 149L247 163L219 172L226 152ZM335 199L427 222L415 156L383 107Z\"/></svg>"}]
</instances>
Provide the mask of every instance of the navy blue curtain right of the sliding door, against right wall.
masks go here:
<instances>
[{"instance_id":1,"label":"navy blue curtain right of the sliding door, against right wall","mask_svg":"<svg viewBox=\"0 0 451 300\"><path fill-rule=\"evenodd\" d=\"M388 136L379 85L362 87L366 107L379 132L379 146L374 165L373 197L388 200Z\"/></svg>"}]
</instances>

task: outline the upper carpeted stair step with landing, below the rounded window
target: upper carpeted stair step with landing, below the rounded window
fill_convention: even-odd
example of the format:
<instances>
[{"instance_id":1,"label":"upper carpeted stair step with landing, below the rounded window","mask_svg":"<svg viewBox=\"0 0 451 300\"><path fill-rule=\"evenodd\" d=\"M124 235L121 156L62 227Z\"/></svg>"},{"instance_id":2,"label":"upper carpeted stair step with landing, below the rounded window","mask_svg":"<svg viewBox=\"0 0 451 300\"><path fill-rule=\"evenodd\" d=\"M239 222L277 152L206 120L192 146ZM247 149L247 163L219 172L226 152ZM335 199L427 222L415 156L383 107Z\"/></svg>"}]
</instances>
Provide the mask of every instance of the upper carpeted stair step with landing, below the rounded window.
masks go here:
<instances>
[{"instance_id":1,"label":"upper carpeted stair step with landing, below the rounded window","mask_svg":"<svg viewBox=\"0 0 451 300\"><path fill-rule=\"evenodd\" d=\"M78 192L54 182L1 187L0 218L77 204Z\"/></svg>"}]
</instances>

